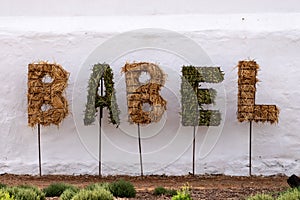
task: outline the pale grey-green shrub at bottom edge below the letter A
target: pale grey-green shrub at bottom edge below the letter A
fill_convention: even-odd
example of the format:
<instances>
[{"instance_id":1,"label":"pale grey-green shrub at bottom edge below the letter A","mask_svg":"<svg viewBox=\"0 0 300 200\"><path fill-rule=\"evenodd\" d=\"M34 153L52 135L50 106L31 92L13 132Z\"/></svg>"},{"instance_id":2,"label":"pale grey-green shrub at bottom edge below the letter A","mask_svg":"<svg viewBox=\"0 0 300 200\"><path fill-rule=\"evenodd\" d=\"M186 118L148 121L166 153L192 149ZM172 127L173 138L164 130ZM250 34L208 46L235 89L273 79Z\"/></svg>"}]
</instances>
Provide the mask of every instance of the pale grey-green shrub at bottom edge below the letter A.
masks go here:
<instances>
[{"instance_id":1,"label":"pale grey-green shrub at bottom edge below the letter A","mask_svg":"<svg viewBox=\"0 0 300 200\"><path fill-rule=\"evenodd\" d=\"M78 192L72 200L113 200L113 195L103 189L97 189L97 190L81 190Z\"/></svg>"}]
</instances>

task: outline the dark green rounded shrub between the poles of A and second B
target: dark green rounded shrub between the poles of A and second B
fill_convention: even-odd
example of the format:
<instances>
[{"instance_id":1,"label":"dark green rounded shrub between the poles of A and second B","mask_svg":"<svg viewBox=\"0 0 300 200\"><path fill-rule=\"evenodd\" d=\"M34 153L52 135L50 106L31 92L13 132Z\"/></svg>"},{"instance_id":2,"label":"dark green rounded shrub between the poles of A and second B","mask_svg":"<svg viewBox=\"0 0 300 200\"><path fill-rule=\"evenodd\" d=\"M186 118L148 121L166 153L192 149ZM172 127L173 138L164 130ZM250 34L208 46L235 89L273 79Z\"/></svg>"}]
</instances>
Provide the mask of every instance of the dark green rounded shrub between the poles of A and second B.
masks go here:
<instances>
[{"instance_id":1,"label":"dark green rounded shrub between the poles of A and second B","mask_svg":"<svg viewBox=\"0 0 300 200\"><path fill-rule=\"evenodd\" d=\"M132 198L136 195L136 191L132 183L125 180L119 180L111 183L109 189L115 197Z\"/></svg>"}]
</instances>

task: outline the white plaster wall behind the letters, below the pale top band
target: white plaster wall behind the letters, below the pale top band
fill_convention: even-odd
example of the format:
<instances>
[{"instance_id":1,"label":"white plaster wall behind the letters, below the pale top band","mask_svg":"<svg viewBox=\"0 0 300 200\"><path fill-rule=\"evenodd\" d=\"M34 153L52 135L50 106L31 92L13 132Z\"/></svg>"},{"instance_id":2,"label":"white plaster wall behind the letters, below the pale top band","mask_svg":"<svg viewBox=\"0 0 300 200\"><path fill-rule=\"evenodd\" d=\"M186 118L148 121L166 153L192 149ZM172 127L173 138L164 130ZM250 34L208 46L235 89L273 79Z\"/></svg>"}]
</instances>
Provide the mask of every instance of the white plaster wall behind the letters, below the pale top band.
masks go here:
<instances>
[{"instance_id":1,"label":"white plaster wall behind the letters, below the pale top band","mask_svg":"<svg viewBox=\"0 0 300 200\"><path fill-rule=\"evenodd\" d=\"M2 6L0 8L3 9ZM291 6L289 9L295 11L296 8ZM274 10L280 11L277 8ZM217 134L216 137L211 137L213 135L209 135L207 128L198 129L196 173L248 174L249 125L236 120L235 68L239 60L247 58L255 59L261 66L256 102L276 104L281 110L278 125L253 126L253 174L300 173L300 136L297 132L300 115L300 14L173 15L175 11L170 14L167 9L162 9L160 14L168 15L139 17L1 17L0 173L38 173L37 134L35 129L27 126L27 64L49 60L60 63L71 73L66 91L71 114L59 128L42 128L43 173L97 174L97 143L94 140L97 126L88 127L83 132L78 124L78 119L82 117L78 113L82 110L83 114L82 105L86 96L87 82L83 80L88 79L91 67L84 66L84 63L104 42L119 33L141 28L163 28L191 38L202 47L214 65L221 66L225 72L223 84L214 86L221 92L218 97L220 102L226 105L222 111L224 126L215 131L210 129ZM7 15L19 15L18 12L6 12ZM145 13L151 14L148 11ZM122 93L125 82L122 84L120 68L125 61L140 61L138 59L143 58L143 61L149 59L160 63L162 69L169 73L166 84L171 88L162 91L164 98L168 99L166 125L142 128L142 133L150 136L157 126L170 128L157 131L155 136L144 136L144 170L147 174L187 174L191 171L192 129L177 131L180 96L176 87L180 84L180 67L184 59L158 51L137 51L129 55L133 57L120 55L112 63L120 105L124 104L122 99L125 95ZM80 74L82 71L85 73ZM223 89L225 94L222 94ZM124 117L126 110L121 111ZM122 120L124 125L120 130L106 123L105 117L103 174L138 175L137 140L133 131L126 132L136 128L130 126L126 129L126 121L124 118ZM83 136L91 140L85 140ZM170 138L174 139L173 143L169 143ZM213 144L213 148L207 148L207 144ZM155 151L158 145L164 148Z\"/></svg>"}]
</instances>

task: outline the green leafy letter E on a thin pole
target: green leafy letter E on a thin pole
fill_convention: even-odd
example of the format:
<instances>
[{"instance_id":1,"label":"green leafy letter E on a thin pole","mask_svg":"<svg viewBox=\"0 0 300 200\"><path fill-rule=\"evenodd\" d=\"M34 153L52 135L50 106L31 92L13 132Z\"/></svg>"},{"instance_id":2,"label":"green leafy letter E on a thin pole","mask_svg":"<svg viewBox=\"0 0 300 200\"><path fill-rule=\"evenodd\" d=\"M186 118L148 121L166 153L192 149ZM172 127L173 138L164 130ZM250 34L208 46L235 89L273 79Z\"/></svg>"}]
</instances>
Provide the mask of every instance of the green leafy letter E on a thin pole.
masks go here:
<instances>
[{"instance_id":1,"label":"green leafy letter E on a thin pole","mask_svg":"<svg viewBox=\"0 0 300 200\"><path fill-rule=\"evenodd\" d=\"M219 110L204 110L203 104L213 104L217 95L214 89L200 89L199 83L220 83L224 74L220 67L182 67L181 103L183 126L218 126Z\"/></svg>"}]
</instances>

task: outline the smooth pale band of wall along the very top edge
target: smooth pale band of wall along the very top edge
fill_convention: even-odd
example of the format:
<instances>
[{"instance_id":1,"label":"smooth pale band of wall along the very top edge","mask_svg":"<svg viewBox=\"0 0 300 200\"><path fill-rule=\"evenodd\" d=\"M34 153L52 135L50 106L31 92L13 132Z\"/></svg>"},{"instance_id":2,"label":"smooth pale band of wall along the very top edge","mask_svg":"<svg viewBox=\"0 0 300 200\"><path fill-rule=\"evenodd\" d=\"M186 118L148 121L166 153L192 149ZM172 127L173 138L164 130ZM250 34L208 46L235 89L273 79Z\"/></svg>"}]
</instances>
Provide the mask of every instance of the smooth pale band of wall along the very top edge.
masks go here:
<instances>
[{"instance_id":1,"label":"smooth pale band of wall along the very top edge","mask_svg":"<svg viewBox=\"0 0 300 200\"><path fill-rule=\"evenodd\" d=\"M299 12L298 0L1 0L0 16L136 16Z\"/></svg>"}]
</instances>

